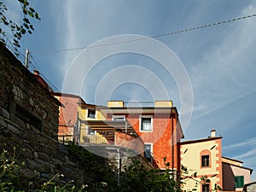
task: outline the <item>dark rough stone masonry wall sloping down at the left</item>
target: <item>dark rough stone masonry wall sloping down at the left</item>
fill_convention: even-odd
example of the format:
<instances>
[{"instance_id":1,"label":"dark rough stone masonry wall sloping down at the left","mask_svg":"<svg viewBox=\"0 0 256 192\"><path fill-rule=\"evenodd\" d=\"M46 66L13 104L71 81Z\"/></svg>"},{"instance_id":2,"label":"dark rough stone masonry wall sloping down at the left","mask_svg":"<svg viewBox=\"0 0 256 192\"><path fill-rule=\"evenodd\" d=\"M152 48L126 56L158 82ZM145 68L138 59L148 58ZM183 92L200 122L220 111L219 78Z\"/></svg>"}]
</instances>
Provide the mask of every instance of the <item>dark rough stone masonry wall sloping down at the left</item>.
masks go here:
<instances>
[{"instance_id":1,"label":"dark rough stone masonry wall sloping down at the left","mask_svg":"<svg viewBox=\"0 0 256 192\"><path fill-rule=\"evenodd\" d=\"M57 142L60 103L0 44L0 152L15 148L25 162L21 177L43 183L56 173L60 182L84 183L67 147Z\"/></svg>"}]
</instances>

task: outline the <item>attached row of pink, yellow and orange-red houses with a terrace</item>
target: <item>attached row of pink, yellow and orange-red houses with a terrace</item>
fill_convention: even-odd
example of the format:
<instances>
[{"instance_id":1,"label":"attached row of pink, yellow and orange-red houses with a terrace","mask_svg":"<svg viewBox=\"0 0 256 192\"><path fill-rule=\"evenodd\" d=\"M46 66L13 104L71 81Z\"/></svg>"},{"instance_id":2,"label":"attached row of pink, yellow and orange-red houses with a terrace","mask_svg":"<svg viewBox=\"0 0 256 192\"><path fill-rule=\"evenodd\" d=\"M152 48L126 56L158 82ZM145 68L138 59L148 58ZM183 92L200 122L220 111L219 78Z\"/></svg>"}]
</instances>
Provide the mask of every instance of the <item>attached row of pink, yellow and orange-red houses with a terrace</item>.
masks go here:
<instances>
[{"instance_id":1,"label":"attached row of pink, yellow and orange-red houses with a terrace","mask_svg":"<svg viewBox=\"0 0 256 192\"><path fill-rule=\"evenodd\" d=\"M172 101L156 101L154 107L146 108L126 108L124 102L111 101L102 107L87 104L80 96L52 94L62 104L59 140L71 141L74 137L80 145L102 143L134 148L154 167L166 169L166 158L169 168L179 170L178 143L183 131Z\"/></svg>"}]
</instances>

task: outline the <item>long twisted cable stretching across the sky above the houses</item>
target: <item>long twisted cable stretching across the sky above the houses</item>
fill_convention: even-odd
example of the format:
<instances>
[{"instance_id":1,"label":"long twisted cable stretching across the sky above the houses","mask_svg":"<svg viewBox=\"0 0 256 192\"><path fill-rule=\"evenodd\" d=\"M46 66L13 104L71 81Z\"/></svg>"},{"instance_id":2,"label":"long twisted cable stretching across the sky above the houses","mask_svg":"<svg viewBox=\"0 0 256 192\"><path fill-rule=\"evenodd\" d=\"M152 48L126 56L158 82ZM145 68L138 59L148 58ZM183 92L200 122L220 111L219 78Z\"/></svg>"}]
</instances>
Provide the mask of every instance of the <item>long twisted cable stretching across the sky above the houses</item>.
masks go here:
<instances>
[{"instance_id":1,"label":"long twisted cable stretching across the sky above the houses","mask_svg":"<svg viewBox=\"0 0 256 192\"><path fill-rule=\"evenodd\" d=\"M192 27L192 28L187 28L187 29L183 29L183 30L179 30L179 31L175 31L175 32L166 32L166 33L162 33L162 34L158 34L158 35L152 35L152 36L148 36L148 37L144 37L144 38L134 38L134 39L131 39L131 40L120 41L120 42L115 42L115 43L99 44L99 45L85 46L85 47L79 47L79 48L70 48L70 49L54 49L54 50L32 51L32 53L54 53L54 52L64 52L64 51L72 51L72 50L79 50L79 49L91 49L91 48L104 47L104 46L110 46L110 45L116 45L116 44L127 44L127 43L131 43L131 42L135 42L135 41L146 40L148 38L161 38L161 37L164 37L164 36L174 35L174 34L181 33L181 32L194 31L194 30L201 29L201 28L206 28L206 27L209 27L209 26L218 26L218 25L222 25L222 24L225 24L225 23L230 23L230 22L233 22L233 21L236 21L236 20L244 20L244 19L254 17L254 16L256 16L256 14L247 15L247 16L243 16L243 17L237 17L237 18L232 19L232 20L218 21L218 22L203 25L203 26L195 26L195 27Z\"/></svg>"}]
</instances>

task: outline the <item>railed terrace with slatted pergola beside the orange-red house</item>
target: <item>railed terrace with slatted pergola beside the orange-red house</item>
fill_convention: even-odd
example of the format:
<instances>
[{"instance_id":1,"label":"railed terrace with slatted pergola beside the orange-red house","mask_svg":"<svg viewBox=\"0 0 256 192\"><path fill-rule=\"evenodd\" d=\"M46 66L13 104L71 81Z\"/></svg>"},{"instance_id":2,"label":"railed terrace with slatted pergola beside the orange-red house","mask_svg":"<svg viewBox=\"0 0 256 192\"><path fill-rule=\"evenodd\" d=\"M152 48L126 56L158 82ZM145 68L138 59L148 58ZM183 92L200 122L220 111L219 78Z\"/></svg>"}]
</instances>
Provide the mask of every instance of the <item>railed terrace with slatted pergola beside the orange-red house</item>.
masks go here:
<instances>
[{"instance_id":1,"label":"railed terrace with slatted pergola beside the orange-red house","mask_svg":"<svg viewBox=\"0 0 256 192\"><path fill-rule=\"evenodd\" d=\"M143 154L144 143L128 121L78 119L73 135L59 135L59 141L72 138L80 146L117 146Z\"/></svg>"}]
</instances>

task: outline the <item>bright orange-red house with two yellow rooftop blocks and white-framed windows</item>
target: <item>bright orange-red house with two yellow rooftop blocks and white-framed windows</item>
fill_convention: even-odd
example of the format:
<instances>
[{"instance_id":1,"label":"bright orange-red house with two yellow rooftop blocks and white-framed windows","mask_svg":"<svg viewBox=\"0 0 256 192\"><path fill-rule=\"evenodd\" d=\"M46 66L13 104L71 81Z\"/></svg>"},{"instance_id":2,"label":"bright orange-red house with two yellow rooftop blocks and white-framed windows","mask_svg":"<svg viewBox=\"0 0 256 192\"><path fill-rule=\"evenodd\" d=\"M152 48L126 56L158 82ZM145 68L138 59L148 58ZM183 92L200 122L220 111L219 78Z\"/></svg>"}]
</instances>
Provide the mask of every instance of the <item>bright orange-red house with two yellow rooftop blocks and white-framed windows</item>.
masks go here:
<instances>
[{"instance_id":1,"label":"bright orange-red house with two yellow rooftop blocks and white-framed windows","mask_svg":"<svg viewBox=\"0 0 256 192\"><path fill-rule=\"evenodd\" d=\"M110 101L99 110L108 120L127 120L143 140L145 156L154 167L165 169L164 158L174 171L180 167L180 148L183 131L177 108L172 101L154 102L154 107L125 107L122 101Z\"/></svg>"}]
</instances>

